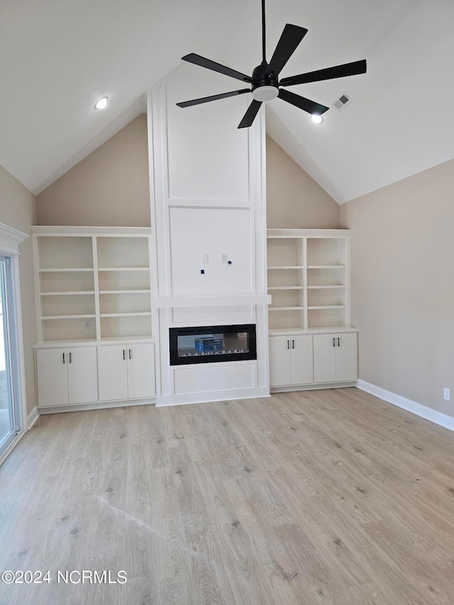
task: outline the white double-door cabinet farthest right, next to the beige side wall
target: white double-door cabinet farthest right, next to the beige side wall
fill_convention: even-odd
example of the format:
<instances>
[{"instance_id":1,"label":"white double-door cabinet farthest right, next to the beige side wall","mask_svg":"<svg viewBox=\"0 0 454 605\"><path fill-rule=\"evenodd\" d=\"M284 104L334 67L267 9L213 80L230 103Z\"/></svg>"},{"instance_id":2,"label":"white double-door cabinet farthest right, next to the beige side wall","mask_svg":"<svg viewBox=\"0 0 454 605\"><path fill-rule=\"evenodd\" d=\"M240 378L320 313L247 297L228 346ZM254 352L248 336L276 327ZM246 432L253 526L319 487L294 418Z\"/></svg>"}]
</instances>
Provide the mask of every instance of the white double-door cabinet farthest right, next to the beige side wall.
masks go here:
<instances>
[{"instance_id":1,"label":"white double-door cabinet farthest right, next to the beige side wall","mask_svg":"<svg viewBox=\"0 0 454 605\"><path fill-rule=\"evenodd\" d=\"M314 335L314 382L358 379L357 333Z\"/></svg>"}]
</instances>

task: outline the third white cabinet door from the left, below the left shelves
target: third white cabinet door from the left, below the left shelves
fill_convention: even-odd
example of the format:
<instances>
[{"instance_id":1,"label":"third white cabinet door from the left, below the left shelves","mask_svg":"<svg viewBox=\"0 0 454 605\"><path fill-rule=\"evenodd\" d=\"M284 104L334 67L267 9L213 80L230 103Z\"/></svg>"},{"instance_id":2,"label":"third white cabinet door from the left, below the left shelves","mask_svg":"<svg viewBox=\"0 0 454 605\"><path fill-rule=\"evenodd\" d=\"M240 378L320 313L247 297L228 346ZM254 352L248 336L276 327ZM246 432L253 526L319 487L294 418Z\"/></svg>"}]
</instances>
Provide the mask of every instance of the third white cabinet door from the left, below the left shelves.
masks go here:
<instances>
[{"instance_id":1,"label":"third white cabinet door from the left, below the left shelves","mask_svg":"<svg viewBox=\"0 0 454 605\"><path fill-rule=\"evenodd\" d=\"M128 399L127 345L98 347L99 401Z\"/></svg>"}]
</instances>

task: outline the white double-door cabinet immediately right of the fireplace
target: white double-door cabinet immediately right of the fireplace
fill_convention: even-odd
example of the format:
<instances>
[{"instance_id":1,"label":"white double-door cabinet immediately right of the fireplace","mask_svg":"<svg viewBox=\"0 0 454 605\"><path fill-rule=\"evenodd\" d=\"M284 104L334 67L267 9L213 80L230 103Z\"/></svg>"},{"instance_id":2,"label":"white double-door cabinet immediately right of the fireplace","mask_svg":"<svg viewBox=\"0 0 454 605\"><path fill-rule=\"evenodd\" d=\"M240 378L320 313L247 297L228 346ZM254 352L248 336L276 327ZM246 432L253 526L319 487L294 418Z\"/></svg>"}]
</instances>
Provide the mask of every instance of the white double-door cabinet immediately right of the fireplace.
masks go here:
<instances>
[{"instance_id":1,"label":"white double-door cabinet immediately right of the fireplace","mask_svg":"<svg viewBox=\"0 0 454 605\"><path fill-rule=\"evenodd\" d=\"M314 382L312 335L270 336L270 386Z\"/></svg>"}]
</instances>

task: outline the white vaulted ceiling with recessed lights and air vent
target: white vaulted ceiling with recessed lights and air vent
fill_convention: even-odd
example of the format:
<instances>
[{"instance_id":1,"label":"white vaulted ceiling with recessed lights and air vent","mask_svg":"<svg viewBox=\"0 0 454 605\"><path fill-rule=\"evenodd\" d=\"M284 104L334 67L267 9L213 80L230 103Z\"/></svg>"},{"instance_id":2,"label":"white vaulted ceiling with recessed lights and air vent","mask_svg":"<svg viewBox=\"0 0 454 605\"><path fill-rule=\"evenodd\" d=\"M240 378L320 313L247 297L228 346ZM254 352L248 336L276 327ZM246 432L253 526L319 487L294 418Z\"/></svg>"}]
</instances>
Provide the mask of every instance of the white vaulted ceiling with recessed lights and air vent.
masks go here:
<instances>
[{"instance_id":1,"label":"white vaulted ceiling with recessed lights and air vent","mask_svg":"<svg viewBox=\"0 0 454 605\"><path fill-rule=\"evenodd\" d=\"M267 0L268 59L285 23L309 33L281 77L367 59L365 75L292 87L330 106L321 126L267 104L267 131L334 199L453 159L453 0ZM260 0L0 0L0 164L38 194L143 111L182 55L249 74L260 35ZM242 87L211 77L213 94Z\"/></svg>"}]
</instances>

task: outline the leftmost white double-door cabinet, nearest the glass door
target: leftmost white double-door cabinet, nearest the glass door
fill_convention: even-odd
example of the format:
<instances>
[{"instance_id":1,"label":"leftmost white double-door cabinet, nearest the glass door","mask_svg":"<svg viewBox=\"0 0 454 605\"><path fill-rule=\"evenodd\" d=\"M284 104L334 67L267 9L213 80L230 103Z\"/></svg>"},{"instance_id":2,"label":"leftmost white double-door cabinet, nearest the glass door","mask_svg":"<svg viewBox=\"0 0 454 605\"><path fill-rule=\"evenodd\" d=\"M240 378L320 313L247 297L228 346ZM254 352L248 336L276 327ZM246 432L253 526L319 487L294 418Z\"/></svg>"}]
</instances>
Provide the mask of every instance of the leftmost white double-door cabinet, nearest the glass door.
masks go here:
<instances>
[{"instance_id":1,"label":"leftmost white double-door cabinet, nearest the glass door","mask_svg":"<svg viewBox=\"0 0 454 605\"><path fill-rule=\"evenodd\" d=\"M36 369L38 407L97 401L96 347L38 349Z\"/></svg>"}]
</instances>

